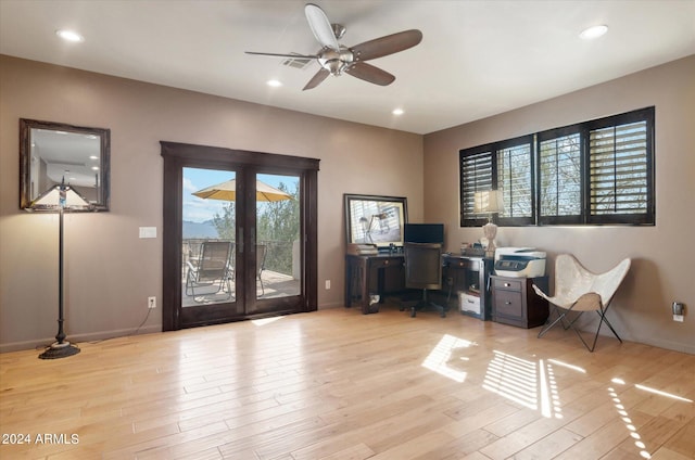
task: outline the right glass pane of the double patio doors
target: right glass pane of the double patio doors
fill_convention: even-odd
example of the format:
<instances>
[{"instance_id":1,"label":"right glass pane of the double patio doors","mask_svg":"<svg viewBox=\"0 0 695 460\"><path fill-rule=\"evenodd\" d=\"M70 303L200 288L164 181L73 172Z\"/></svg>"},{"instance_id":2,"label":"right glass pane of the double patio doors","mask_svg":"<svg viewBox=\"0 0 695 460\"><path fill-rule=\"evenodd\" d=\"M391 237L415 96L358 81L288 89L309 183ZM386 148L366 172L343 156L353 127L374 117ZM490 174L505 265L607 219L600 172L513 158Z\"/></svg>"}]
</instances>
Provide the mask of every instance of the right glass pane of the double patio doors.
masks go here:
<instances>
[{"instance_id":1,"label":"right glass pane of the double patio doors","mask_svg":"<svg viewBox=\"0 0 695 460\"><path fill-rule=\"evenodd\" d=\"M302 285L299 176L256 175L256 299L298 296Z\"/></svg>"}]
</instances>

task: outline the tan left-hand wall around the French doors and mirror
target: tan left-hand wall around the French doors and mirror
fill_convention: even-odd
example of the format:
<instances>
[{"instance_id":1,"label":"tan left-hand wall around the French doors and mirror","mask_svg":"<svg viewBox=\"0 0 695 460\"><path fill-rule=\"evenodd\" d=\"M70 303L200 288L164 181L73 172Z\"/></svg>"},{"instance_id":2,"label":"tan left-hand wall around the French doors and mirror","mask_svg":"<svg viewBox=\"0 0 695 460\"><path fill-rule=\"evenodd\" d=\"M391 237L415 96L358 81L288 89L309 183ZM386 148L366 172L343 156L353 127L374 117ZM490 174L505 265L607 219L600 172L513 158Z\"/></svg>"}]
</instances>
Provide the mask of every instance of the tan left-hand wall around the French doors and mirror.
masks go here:
<instances>
[{"instance_id":1,"label":"tan left-hand wall around the French doors and mirror","mask_svg":"<svg viewBox=\"0 0 695 460\"><path fill-rule=\"evenodd\" d=\"M342 306L343 193L406 196L422 218L422 137L0 56L0 350L50 343L58 219L20 210L18 119L111 129L111 212L65 219L66 331L124 335L162 297L160 140L320 158L318 304ZM138 238L156 227L156 240ZM324 281L331 280L331 290ZM144 331L161 330L161 309Z\"/></svg>"}]
</instances>

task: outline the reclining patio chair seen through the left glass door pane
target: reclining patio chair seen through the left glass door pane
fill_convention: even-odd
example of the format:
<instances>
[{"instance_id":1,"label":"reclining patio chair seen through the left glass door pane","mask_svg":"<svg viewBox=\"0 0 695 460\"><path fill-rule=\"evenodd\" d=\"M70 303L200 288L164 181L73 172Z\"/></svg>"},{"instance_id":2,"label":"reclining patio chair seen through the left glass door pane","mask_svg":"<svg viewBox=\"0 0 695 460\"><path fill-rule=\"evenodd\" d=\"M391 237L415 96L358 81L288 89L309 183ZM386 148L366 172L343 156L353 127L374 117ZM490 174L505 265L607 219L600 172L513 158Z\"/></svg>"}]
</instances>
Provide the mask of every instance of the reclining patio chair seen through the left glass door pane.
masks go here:
<instances>
[{"instance_id":1,"label":"reclining patio chair seen through the left glass door pane","mask_svg":"<svg viewBox=\"0 0 695 460\"><path fill-rule=\"evenodd\" d=\"M231 242L229 241L204 241L201 243L200 255L197 260L186 263L188 272L186 274L186 295L203 296L217 294L220 291L227 292L227 298L231 297L230 257ZM217 291L210 291L210 288L217 286ZM204 288L204 292L200 289ZM226 290L225 290L226 288ZM198 292L195 290L199 290ZM202 302L194 298L195 302Z\"/></svg>"}]
</instances>

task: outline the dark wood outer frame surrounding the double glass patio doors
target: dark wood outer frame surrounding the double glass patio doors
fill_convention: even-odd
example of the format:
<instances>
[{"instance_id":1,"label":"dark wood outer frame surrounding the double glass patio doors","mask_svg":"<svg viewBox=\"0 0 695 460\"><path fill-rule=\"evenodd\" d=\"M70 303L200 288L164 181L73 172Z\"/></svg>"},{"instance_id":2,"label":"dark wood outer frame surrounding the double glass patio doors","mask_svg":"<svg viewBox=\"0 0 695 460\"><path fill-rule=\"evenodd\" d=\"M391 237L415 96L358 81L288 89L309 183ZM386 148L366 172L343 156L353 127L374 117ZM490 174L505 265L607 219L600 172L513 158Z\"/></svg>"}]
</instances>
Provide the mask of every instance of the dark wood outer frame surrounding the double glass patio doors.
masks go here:
<instances>
[{"instance_id":1,"label":"dark wood outer frame surrounding the double glass patio doors","mask_svg":"<svg viewBox=\"0 0 695 460\"><path fill-rule=\"evenodd\" d=\"M300 177L301 235L303 238L303 294L300 305L287 305L281 312L315 311L317 309L317 176L319 159L264 152L232 150L160 141L164 157L163 229L162 229L162 329L181 329L181 201L182 169L249 168L265 174L294 174ZM264 314L267 315L267 314ZM252 316L253 317L253 316ZM249 319L211 318L206 323Z\"/></svg>"}]
</instances>

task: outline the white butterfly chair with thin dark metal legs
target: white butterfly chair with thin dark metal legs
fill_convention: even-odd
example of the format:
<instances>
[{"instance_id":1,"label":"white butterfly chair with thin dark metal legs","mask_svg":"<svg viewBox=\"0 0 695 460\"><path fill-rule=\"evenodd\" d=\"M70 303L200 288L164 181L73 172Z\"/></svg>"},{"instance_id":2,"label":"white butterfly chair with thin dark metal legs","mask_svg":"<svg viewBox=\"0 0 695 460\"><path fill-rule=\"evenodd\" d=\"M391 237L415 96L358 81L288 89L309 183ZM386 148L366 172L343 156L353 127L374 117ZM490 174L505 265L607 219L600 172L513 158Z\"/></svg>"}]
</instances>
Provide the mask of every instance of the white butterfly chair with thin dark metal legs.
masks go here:
<instances>
[{"instance_id":1,"label":"white butterfly chair with thin dark metal legs","mask_svg":"<svg viewBox=\"0 0 695 460\"><path fill-rule=\"evenodd\" d=\"M615 268L606 271L605 273L592 273L586 270L573 256L569 254L560 254L555 260L555 295L553 297L546 295L535 284L533 290L538 295L546 298L551 303L553 309L545 322L545 325L539 332L539 338L542 337L551 328L560 323L565 330L572 329L579 338L582 341L586 349L593 352L596 347L596 341L598 340L598 333L601 327L605 322L614 335L622 343L622 340L618 335L608 319L606 318L606 311L610 306L612 296L618 291L618 286L622 282L623 278L630 269L630 259L626 258ZM577 315L571 315L571 312ZM574 328L574 322L585 311L596 311L601 317L598 321L598 328L596 328L596 334L594 335L594 343L590 347L589 344L582 337L580 331ZM557 318L551 321L553 314ZM570 319L571 318L571 319Z\"/></svg>"}]
</instances>

